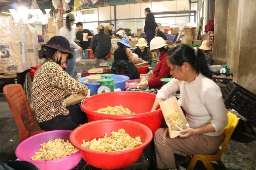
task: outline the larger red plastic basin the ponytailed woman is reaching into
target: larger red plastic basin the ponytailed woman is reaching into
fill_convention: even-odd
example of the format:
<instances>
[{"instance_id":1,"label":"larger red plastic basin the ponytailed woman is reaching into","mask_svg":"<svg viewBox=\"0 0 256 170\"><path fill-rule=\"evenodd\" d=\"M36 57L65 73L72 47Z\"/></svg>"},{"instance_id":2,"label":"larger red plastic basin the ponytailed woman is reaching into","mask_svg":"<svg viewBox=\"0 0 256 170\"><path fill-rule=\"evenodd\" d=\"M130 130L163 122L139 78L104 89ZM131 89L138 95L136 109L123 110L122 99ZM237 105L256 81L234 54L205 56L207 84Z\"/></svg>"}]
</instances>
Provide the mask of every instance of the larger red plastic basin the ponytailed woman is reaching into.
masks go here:
<instances>
[{"instance_id":1,"label":"larger red plastic basin the ponytailed woman is reaching into","mask_svg":"<svg viewBox=\"0 0 256 170\"><path fill-rule=\"evenodd\" d=\"M136 121L146 125L154 134L155 130L160 128L163 119L160 107L151 112L155 96L156 94L152 93L132 91L102 93L84 100L81 103L81 109L86 112L89 122L102 119ZM135 114L112 115L94 112L108 105L113 107L120 104Z\"/></svg>"}]
</instances>

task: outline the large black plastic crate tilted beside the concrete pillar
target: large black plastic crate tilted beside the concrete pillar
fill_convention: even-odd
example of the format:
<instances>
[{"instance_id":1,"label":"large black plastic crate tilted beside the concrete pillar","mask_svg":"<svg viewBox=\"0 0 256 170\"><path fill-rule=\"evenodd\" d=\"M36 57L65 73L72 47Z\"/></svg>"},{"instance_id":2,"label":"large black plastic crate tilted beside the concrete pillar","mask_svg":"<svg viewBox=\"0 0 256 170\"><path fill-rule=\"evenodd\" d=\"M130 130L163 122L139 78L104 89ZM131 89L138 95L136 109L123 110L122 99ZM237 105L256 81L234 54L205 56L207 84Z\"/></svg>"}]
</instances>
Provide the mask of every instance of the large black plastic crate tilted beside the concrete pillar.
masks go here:
<instances>
[{"instance_id":1,"label":"large black plastic crate tilted beside the concrete pillar","mask_svg":"<svg viewBox=\"0 0 256 170\"><path fill-rule=\"evenodd\" d=\"M230 81L222 91L227 108L236 110L247 120L256 123L256 94Z\"/></svg>"}]
</instances>

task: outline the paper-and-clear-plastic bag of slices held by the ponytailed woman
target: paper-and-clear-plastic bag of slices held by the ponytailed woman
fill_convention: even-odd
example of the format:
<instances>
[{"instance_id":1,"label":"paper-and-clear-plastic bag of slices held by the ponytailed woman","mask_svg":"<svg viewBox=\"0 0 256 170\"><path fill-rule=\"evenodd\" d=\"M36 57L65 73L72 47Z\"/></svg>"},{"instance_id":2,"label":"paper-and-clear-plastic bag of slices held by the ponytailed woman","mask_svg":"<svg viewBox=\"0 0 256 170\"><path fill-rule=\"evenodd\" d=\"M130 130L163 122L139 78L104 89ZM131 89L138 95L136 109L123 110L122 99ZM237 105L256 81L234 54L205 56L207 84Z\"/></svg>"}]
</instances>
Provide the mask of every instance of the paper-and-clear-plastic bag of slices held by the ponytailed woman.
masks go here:
<instances>
[{"instance_id":1,"label":"paper-and-clear-plastic bag of slices held by the ponytailed woman","mask_svg":"<svg viewBox=\"0 0 256 170\"><path fill-rule=\"evenodd\" d=\"M189 128L187 119L179 106L176 97L171 97L165 101L159 101L163 112L165 123L168 126L170 138L179 136L179 131Z\"/></svg>"}]
</instances>

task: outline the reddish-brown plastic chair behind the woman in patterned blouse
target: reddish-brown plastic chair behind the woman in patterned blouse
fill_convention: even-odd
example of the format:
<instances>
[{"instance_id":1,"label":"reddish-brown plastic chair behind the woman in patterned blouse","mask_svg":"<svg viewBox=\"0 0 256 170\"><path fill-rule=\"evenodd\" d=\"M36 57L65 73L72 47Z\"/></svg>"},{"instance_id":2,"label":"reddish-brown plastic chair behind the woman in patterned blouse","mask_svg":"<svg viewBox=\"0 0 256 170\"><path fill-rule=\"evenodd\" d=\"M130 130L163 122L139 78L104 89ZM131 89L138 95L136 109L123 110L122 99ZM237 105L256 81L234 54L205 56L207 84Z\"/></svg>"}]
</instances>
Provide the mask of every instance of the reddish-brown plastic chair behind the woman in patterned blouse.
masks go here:
<instances>
[{"instance_id":1,"label":"reddish-brown plastic chair behind the woman in patterned blouse","mask_svg":"<svg viewBox=\"0 0 256 170\"><path fill-rule=\"evenodd\" d=\"M20 142L30 136L45 132L45 130L41 130L38 122L35 121L27 96L21 85L5 85L3 92L18 127Z\"/></svg>"}]
</instances>

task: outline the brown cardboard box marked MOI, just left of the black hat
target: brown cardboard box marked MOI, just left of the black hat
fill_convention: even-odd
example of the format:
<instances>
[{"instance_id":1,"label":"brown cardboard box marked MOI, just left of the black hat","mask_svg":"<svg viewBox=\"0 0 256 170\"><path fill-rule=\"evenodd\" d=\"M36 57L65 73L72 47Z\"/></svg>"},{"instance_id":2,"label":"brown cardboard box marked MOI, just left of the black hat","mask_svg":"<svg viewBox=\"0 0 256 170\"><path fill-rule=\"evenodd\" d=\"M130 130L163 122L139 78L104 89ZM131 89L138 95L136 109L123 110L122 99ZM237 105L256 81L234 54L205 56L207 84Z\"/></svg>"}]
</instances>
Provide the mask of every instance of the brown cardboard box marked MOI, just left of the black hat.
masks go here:
<instances>
[{"instance_id":1,"label":"brown cardboard box marked MOI, just left of the black hat","mask_svg":"<svg viewBox=\"0 0 256 170\"><path fill-rule=\"evenodd\" d=\"M26 46L26 55L28 56L30 67L36 67L39 63L38 47L33 44L28 44Z\"/></svg>"}]
</instances>

